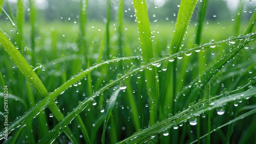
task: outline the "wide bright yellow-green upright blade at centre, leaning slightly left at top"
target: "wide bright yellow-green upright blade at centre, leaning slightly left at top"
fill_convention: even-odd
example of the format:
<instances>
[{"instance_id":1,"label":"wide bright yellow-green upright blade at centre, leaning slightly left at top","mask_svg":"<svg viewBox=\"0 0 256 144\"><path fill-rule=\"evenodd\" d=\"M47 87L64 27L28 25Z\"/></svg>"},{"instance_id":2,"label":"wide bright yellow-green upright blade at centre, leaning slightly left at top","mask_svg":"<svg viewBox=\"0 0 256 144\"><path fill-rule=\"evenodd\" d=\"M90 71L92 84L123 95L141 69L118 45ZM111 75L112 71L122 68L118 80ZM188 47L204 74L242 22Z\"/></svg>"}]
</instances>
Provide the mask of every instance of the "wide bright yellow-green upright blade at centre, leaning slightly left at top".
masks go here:
<instances>
[{"instance_id":1,"label":"wide bright yellow-green upright blade at centre, leaning slightly left at top","mask_svg":"<svg viewBox=\"0 0 256 144\"><path fill-rule=\"evenodd\" d=\"M147 6L145 0L134 0L134 9L139 30L140 46L142 50L142 59L145 63L150 62L154 57L152 34L150 20L148 19ZM145 70L147 93L150 100L150 125L157 121L158 116L158 99L159 99L159 84L156 79L156 68Z\"/></svg>"}]
</instances>

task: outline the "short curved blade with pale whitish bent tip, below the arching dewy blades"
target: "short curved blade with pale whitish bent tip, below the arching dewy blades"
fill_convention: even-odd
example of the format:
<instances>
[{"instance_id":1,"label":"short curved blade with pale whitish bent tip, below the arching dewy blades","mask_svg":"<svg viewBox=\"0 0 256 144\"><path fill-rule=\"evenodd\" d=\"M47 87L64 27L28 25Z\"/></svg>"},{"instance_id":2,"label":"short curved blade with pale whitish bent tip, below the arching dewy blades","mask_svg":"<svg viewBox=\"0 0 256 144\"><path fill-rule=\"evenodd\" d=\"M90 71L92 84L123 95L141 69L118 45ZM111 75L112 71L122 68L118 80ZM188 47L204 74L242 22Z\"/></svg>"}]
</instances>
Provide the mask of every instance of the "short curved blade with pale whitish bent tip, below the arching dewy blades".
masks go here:
<instances>
[{"instance_id":1,"label":"short curved blade with pale whitish bent tip, below the arching dewy blades","mask_svg":"<svg viewBox=\"0 0 256 144\"><path fill-rule=\"evenodd\" d=\"M112 110L116 104L116 99L117 96L120 92L120 89L116 90L112 96L109 99L109 102L106 104L106 108L105 108L105 120L104 120L104 124L103 124L103 132L102 132L102 136L101 136L101 143L105 143L105 131L106 131L106 127L108 126L111 114L112 114Z\"/></svg>"}]
</instances>

